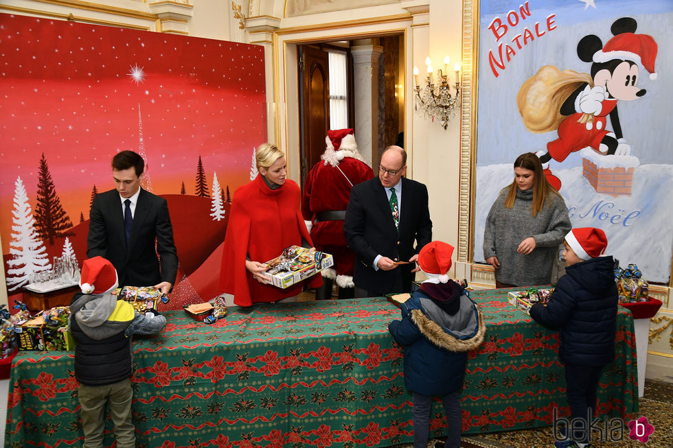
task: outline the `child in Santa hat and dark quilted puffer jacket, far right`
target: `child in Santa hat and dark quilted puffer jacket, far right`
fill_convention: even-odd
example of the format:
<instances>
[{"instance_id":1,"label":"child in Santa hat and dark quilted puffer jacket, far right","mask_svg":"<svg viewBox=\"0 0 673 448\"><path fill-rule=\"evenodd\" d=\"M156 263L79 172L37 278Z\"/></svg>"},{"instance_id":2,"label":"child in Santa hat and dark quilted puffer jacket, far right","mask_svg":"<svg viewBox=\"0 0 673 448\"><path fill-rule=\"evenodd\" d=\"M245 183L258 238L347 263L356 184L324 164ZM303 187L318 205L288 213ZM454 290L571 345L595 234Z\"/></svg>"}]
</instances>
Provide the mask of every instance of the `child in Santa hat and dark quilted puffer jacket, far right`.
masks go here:
<instances>
[{"instance_id":1,"label":"child in Santa hat and dark quilted puffer jacket, far right","mask_svg":"<svg viewBox=\"0 0 673 448\"><path fill-rule=\"evenodd\" d=\"M556 448L591 446L593 411L601 370L615 359L617 285L612 256L601 257L608 239L600 228L575 228L563 241L566 274L558 279L546 305L537 303L530 316L558 329L558 356L565 362L566 396L571 425ZM554 434L558 436L558 434Z\"/></svg>"}]
</instances>

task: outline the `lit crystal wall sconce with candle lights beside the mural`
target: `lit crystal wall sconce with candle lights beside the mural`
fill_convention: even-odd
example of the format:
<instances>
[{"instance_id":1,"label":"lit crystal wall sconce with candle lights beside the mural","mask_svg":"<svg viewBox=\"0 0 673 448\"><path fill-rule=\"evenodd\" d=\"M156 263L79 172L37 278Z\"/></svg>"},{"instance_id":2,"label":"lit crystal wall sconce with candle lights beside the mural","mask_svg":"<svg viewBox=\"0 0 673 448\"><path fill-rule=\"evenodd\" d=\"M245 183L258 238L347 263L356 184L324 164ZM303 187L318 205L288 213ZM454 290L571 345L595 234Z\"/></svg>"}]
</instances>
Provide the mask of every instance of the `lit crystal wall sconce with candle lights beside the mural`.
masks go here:
<instances>
[{"instance_id":1,"label":"lit crystal wall sconce with candle lights beside the mural","mask_svg":"<svg viewBox=\"0 0 673 448\"><path fill-rule=\"evenodd\" d=\"M416 87L414 89L414 98L416 100L415 110L422 117L430 118L433 121L435 117L440 121L444 129L448 127L451 117L458 113L460 109L460 64L455 63L453 69L456 73L455 83L449 84L448 78L448 56L444 58L444 73L437 71L437 84L433 78L433 67L430 56L425 58L425 64L428 66L428 76L424 86L418 82L418 67L413 67L413 78ZM451 88L455 93L451 94Z\"/></svg>"}]
</instances>

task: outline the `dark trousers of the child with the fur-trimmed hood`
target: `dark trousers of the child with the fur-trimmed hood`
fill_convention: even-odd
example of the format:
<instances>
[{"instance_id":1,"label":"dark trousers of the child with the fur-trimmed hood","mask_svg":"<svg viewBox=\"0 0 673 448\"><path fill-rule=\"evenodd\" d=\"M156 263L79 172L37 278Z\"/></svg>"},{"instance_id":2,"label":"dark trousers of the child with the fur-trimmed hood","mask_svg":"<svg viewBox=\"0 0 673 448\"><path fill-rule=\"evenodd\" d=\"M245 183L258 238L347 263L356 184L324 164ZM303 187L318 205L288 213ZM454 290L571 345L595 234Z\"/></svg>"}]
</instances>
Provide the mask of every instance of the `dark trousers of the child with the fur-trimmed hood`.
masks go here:
<instances>
[{"instance_id":1,"label":"dark trousers of the child with the fur-trimmed hood","mask_svg":"<svg viewBox=\"0 0 673 448\"><path fill-rule=\"evenodd\" d=\"M428 446L432 401L433 397L413 392L413 448L427 448ZM460 410L459 392L444 395L442 403L444 403L448 423L446 448L460 448L463 414Z\"/></svg>"}]
</instances>

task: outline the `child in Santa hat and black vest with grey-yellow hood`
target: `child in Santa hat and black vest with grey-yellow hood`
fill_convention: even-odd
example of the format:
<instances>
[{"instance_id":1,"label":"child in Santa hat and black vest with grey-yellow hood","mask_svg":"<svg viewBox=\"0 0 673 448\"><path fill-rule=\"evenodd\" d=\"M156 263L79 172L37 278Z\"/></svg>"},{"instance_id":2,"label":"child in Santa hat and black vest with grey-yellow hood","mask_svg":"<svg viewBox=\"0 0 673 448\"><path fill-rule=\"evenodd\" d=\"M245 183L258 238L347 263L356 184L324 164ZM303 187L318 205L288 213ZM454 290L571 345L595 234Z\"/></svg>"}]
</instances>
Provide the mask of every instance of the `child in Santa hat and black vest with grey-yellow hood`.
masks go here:
<instances>
[{"instance_id":1,"label":"child in Santa hat and black vest with grey-yellow hood","mask_svg":"<svg viewBox=\"0 0 673 448\"><path fill-rule=\"evenodd\" d=\"M115 424L117 448L135 448L131 421L133 334L159 333L166 318L139 314L111 294L117 271L110 261L93 257L82 263L80 288L70 304L68 329L76 342L75 377L84 431L84 448L102 448L106 403Z\"/></svg>"}]
</instances>

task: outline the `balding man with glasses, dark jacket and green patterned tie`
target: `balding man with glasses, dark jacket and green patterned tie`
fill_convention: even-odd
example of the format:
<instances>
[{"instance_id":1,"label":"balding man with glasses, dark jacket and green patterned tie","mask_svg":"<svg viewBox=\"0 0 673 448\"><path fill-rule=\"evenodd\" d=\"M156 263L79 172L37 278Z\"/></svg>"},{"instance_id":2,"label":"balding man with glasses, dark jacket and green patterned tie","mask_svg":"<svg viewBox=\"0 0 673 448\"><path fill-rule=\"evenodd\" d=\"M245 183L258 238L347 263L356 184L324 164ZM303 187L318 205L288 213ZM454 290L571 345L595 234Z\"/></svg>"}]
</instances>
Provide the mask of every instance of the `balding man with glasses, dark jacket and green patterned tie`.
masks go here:
<instances>
[{"instance_id":1,"label":"balding man with glasses, dark jacket and green patterned tie","mask_svg":"<svg viewBox=\"0 0 673 448\"><path fill-rule=\"evenodd\" d=\"M428 189L404 178L407 152L389 146L378 177L355 185L343 222L348 246L357 255L356 297L410 292L418 252L432 241ZM415 242L415 246L414 246ZM411 261L408 264L398 264Z\"/></svg>"}]
</instances>

